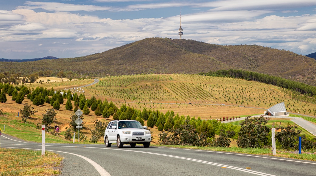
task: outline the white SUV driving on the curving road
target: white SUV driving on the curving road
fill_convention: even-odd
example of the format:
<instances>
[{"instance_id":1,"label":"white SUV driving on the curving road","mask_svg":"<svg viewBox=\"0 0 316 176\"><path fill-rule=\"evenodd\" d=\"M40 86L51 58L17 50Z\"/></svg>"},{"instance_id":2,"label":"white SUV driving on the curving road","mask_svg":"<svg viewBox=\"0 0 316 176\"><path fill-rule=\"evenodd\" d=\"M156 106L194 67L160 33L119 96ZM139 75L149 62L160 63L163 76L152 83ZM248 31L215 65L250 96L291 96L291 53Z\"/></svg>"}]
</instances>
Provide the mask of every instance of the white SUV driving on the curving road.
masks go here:
<instances>
[{"instance_id":1,"label":"white SUV driving on the curving road","mask_svg":"<svg viewBox=\"0 0 316 176\"><path fill-rule=\"evenodd\" d=\"M131 147L143 144L147 148L150 141L150 131L136 120L113 120L107 125L104 132L106 147L111 147L112 143L116 143L118 148L123 147L124 144L130 144Z\"/></svg>"}]
</instances>

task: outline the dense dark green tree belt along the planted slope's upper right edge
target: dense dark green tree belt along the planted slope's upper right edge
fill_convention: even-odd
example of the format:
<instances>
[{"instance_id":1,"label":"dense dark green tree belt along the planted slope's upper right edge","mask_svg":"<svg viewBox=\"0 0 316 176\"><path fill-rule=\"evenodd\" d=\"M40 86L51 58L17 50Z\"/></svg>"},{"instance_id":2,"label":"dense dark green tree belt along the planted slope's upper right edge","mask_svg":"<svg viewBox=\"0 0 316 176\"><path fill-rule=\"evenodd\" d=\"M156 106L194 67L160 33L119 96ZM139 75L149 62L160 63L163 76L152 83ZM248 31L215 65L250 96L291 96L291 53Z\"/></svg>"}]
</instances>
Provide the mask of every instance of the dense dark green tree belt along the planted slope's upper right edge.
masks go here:
<instances>
[{"instance_id":1,"label":"dense dark green tree belt along the planted slope's upper right edge","mask_svg":"<svg viewBox=\"0 0 316 176\"><path fill-rule=\"evenodd\" d=\"M293 91L300 92L301 94L306 94L307 96L316 95L316 87L312 85L307 85L301 82L291 81L288 79L270 76L267 74L249 72L245 70L217 70L215 72L199 73L201 75L216 76L216 77L229 77L229 78L239 78L249 81L258 81L265 84L275 85L278 87L290 89Z\"/></svg>"}]
</instances>

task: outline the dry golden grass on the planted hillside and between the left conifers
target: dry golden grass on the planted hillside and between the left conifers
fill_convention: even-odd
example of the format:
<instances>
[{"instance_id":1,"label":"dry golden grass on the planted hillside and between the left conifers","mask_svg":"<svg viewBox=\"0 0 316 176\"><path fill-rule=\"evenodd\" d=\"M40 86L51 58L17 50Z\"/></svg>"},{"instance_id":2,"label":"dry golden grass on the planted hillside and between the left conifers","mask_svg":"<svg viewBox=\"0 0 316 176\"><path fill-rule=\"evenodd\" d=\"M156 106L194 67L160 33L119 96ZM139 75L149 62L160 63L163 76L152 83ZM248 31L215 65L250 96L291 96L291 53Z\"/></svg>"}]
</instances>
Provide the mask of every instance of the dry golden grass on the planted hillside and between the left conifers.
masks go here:
<instances>
[{"instance_id":1,"label":"dry golden grass on the planted hillside and between the left conifers","mask_svg":"<svg viewBox=\"0 0 316 176\"><path fill-rule=\"evenodd\" d=\"M50 81L47 82L47 79ZM63 79L61 81L60 78L51 77L41 77L39 80L44 80L44 83L32 83L26 86L31 89L39 86L64 90L87 85L94 81L93 79L71 81ZM289 95L289 92L286 93L276 86L241 79L200 75L150 74L107 77L100 79L96 85L82 89L85 90L86 98L94 95L102 101L105 99L109 102L112 101L118 107L126 103L127 106L135 109L157 109L163 113L172 110L175 114L201 117L201 119L263 114L264 109L281 102L285 102L289 112L314 115L316 109L315 104L297 101ZM80 93L77 92L77 94ZM34 106L26 97L23 104L15 103L8 95L7 100L6 103L0 103L0 109L17 120L21 120L21 117L16 116L23 108L23 104L31 104L38 111L34 117L28 120L34 124L40 123L45 110L52 108L48 103L43 106ZM56 123L62 131L68 126L70 117L74 114L73 111L65 109L65 103L64 100L64 104L61 104L56 115ZM82 132L88 134L93 129L93 122L96 119L106 121L101 116L94 115L93 111L89 115L84 115L83 121L86 122L87 128ZM154 131L156 141L159 132L156 128L153 128L152 131Z\"/></svg>"}]
</instances>

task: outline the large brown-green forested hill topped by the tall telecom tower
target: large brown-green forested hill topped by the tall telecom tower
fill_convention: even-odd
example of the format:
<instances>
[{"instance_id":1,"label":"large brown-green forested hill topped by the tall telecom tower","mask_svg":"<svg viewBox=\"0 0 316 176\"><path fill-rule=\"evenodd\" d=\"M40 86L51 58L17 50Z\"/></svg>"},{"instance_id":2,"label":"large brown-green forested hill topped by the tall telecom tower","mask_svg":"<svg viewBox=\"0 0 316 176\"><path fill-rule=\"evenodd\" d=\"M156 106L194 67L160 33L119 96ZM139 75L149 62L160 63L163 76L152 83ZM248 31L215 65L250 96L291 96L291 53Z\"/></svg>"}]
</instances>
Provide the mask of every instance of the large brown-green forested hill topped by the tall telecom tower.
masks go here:
<instances>
[{"instance_id":1,"label":"large brown-green forested hill topped by the tall telecom tower","mask_svg":"<svg viewBox=\"0 0 316 176\"><path fill-rule=\"evenodd\" d=\"M316 61L310 57L257 45L216 45L185 39L146 38L89 56L1 64L0 72L15 71L24 76L46 70L52 70L52 76L72 71L100 77L242 69L316 85Z\"/></svg>"}]
</instances>

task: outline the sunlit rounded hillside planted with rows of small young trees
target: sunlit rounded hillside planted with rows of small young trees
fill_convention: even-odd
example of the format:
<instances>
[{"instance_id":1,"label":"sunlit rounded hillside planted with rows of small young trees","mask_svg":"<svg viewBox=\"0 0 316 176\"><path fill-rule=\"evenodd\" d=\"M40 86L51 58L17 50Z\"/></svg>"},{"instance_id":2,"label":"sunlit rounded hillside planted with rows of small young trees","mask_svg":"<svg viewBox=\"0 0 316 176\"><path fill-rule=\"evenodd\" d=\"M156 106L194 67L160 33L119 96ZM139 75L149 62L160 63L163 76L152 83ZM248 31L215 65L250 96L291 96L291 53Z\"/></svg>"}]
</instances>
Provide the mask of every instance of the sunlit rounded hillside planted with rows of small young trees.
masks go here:
<instances>
[{"instance_id":1,"label":"sunlit rounded hillside planted with rows of small young trees","mask_svg":"<svg viewBox=\"0 0 316 176\"><path fill-rule=\"evenodd\" d=\"M116 85L116 82L123 84L123 80L142 81L125 84L127 86L106 86L109 82L113 82L113 85ZM288 111L309 115L316 113L314 105L310 104L311 97L276 86L268 88L265 84L242 79L185 74L125 75L103 78L98 85L86 89L96 97L107 97L117 106L126 102L137 109L176 110L186 108L189 103L194 106L226 104L268 109L277 103L285 102Z\"/></svg>"}]
</instances>

